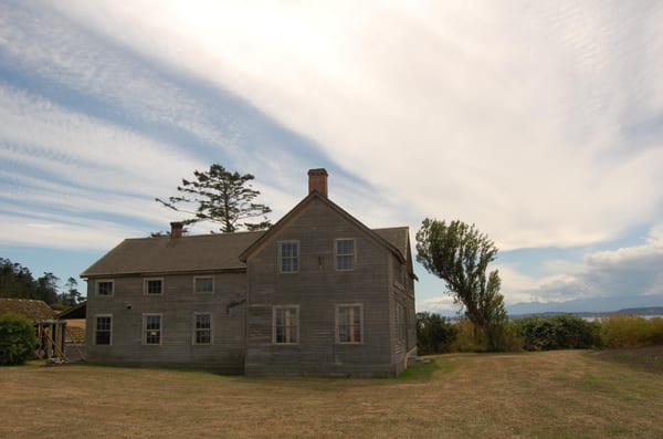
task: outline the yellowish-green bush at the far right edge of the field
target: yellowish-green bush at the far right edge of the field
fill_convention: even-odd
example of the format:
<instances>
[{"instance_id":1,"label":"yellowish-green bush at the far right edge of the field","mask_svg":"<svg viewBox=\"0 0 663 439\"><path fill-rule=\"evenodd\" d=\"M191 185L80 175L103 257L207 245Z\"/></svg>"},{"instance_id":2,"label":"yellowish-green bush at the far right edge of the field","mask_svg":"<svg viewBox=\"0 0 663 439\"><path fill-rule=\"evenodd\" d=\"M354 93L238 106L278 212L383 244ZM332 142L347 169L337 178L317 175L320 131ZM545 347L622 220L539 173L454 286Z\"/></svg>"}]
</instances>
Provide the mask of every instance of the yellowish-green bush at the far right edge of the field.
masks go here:
<instances>
[{"instance_id":1,"label":"yellowish-green bush at the far right edge of the field","mask_svg":"<svg viewBox=\"0 0 663 439\"><path fill-rule=\"evenodd\" d=\"M610 315L601 320L601 339L606 347L642 347L663 344L663 318Z\"/></svg>"}]
</instances>

